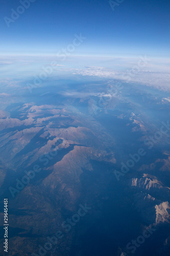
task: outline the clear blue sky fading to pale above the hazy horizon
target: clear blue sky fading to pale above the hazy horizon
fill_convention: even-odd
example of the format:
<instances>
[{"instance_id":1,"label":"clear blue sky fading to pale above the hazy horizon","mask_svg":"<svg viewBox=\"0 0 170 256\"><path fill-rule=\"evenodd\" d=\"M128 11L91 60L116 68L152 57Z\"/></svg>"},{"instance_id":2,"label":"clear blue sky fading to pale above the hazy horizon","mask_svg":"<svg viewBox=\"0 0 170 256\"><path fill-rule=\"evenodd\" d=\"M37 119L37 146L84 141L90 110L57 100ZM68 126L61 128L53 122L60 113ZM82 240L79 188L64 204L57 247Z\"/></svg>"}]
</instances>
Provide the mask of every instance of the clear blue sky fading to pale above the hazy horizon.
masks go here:
<instances>
[{"instance_id":1,"label":"clear blue sky fading to pale above the hazy horizon","mask_svg":"<svg viewBox=\"0 0 170 256\"><path fill-rule=\"evenodd\" d=\"M82 34L75 55L169 58L169 0L117 0L114 8L107 0L31 1L17 9L18 0L1 0L0 54L53 55ZM11 9L23 10L13 22Z\"/></svg>"}]
</instances>

